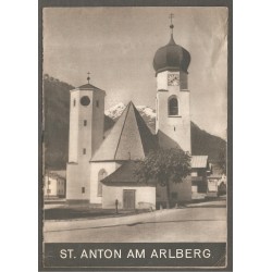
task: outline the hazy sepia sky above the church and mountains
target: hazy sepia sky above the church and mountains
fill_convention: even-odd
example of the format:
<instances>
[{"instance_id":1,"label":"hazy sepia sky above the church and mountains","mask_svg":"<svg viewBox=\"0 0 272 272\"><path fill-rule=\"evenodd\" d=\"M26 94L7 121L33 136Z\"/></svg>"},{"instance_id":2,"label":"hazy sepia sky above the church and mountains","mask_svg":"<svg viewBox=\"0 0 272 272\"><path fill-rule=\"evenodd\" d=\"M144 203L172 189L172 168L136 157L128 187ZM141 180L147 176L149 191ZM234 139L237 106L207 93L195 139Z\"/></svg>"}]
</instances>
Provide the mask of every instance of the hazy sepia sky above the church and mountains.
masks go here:
<instances>
[{"instance_id":1,"label":"hazy sepia sky above the church and mountains","mask_svg":"<svg viewBox=\"0 0 272 272\"><path fill-rule=\"evenodd\" d=\"M227 9L46 8L44 73L75 87L106 90L106 110L132 100L154 109L156 51L170 40L189 51L191 121L225 138L227 128Z\"/></svg>"}]
</instances>

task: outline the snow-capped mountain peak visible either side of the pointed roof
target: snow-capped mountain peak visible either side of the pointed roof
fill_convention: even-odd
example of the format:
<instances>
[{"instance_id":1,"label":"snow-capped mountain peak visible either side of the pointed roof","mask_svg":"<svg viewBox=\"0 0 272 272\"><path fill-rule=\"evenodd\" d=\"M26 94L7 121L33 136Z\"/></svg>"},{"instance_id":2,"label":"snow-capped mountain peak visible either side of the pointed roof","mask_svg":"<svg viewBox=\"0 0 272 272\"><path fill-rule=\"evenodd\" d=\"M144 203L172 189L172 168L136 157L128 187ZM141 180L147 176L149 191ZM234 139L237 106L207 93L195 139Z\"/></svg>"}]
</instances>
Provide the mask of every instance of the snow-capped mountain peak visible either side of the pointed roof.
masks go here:
<instances>
[{"instance_id":1,"label":"snow-capped mountain peak visible either side of the pointed roof","mask_svg":"<svg viewBox=\"0 0 272 272\"><path fill-rule=\"evenodd\" d=\"M116 121L122 112L124 111L126 104L120 102L112 108L108 109L104 114L111 118L112 120ZM154 132L154 120L156 120L156 111L148 107L148 106L136 106L136 109L146 121L146 124L149 126L150 131Z\"/></svg>"}]
</instances>

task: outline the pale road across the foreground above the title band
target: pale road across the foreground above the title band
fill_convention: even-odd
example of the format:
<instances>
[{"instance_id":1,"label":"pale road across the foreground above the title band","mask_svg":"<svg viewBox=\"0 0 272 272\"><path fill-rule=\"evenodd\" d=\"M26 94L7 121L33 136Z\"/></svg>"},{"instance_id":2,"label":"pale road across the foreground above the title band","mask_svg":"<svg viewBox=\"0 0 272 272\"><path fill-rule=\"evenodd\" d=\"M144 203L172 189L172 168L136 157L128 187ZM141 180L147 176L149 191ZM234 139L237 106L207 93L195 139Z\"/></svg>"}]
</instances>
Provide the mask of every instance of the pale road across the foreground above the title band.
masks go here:
<instances>
[{"instance_id":1,"label":"pale road across the foreground above the title band","mask_svg":"<svg viewBox=\"0 0 272 272\"><path fill-rule=\"evenodd\" d=\"M45 221L46 243L226 242L225 202L121 218Z\"/></svg>"}]
</instances>

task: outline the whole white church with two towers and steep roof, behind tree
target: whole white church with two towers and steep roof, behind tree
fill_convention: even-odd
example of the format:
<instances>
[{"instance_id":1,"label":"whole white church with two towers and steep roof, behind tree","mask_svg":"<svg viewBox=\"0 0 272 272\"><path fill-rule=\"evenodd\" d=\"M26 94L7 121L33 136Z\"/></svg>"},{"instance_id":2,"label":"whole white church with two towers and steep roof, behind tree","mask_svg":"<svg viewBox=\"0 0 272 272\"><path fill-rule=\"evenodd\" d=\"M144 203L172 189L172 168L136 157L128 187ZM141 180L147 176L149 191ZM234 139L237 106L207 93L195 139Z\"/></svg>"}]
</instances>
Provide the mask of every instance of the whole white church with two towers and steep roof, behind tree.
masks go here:
<instances>
[{"instance_id":1,"label":"whole white church with two towers and steep roof, behind tree","mask_svg":"<svg viewBox=\"0 0 272 272\"><path fill-rule=\"evenodd\" d=\"M154 134L132 101L106 134L106 91L92 86L89 77L87 84L71 90L67 202L84 201L106 209L114 208L116 200L120 209L156 209L158 203L165 202L164 187L154 182L137 182L134 168L137 160L158 148L180 148L191 153L190 54L175 44L172 23L170 28L170 41L153 57L157 81ZM193 156L193 170L207 168L208 156ZM195 177L191 175L181 184L171 184L172 202L191 199Z\"/></svg>"}]
</instances>

